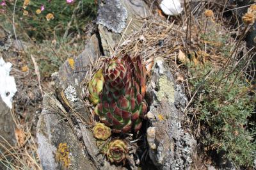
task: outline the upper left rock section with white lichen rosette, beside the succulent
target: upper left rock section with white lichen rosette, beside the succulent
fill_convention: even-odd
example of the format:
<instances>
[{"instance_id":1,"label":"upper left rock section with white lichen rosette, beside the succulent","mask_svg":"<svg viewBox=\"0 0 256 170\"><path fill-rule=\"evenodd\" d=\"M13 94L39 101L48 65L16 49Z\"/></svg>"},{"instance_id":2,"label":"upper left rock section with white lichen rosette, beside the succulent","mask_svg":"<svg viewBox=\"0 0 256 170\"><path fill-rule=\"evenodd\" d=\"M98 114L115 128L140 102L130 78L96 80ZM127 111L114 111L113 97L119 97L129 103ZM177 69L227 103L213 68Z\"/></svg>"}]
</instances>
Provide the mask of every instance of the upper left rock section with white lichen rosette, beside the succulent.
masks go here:
<instances>
[{"instance_id":1,"label":"upper left rock section with white lichen rosette, beside the succulent","mask_svg":"<svg viewBox=\"0 0 256 170\"><path fill-rule=\"evenodd\" d=\"M75 58L67 59L67 61L60 67L59 72L52 76L58 97L63 101L63 97L61 97L61 93L63 93L68 100L68 105L65 104L65 102L62 102L65 108L72 108L78 114L81 114L86 121L90 121L90 116L86 114L88 111L86 110L86 107L84 107L83 97L81 96L81 83L84 81L84 77L88 70L90 70L91 62L99 57L99 40L96 35L93 35L86 42L83 52ZM70 89L73 90L70 91ZM73 99L70 100L68 98Z\"/></svg>"}]
</instances>

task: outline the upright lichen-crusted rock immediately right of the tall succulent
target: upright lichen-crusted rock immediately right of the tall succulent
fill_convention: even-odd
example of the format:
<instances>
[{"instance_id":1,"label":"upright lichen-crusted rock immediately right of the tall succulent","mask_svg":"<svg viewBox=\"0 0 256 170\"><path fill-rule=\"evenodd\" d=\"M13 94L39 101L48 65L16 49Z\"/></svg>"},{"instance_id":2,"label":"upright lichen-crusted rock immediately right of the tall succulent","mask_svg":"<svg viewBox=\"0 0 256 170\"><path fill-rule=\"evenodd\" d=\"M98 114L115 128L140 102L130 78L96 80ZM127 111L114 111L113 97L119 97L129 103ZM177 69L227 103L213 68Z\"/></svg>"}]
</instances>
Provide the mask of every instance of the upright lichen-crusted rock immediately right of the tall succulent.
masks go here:
<instances>
[{"instance_id":1,"label":"upright lichen-crusted rock immediately right of the tall succulent","mask_svg":"<svg viewBox=\"0 0 256 170\"><path fill-rule=\"evenodd\" d=\"M182 127L183 115L175 106L175 103L186 104L186 98L164 60L156 58L154 63L152 79L147 86L147 93L152 98L147 130L149 155L158 169L186 169L192 161L196 141L189 130Z\"/></svg>"}]
</instances>

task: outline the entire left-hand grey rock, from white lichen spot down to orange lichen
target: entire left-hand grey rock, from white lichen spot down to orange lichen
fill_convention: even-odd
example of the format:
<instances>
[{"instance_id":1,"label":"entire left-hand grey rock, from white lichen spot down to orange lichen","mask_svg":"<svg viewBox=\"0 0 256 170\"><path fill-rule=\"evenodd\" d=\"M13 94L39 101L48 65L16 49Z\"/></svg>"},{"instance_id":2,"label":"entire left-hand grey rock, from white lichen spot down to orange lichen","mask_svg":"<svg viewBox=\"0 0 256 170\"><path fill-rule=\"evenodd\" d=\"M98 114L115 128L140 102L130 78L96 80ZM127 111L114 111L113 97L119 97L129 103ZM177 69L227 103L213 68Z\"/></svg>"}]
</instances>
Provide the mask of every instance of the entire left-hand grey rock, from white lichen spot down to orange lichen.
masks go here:
<instances>
[{"instance_id":1,"label":"entire left-hand grey rock, from white lichen spot down to orange lichen","mask_svg":"<svg viewBox=\"0 0 256 170\"><path fill-rule=\"evenodd\" d=\"M90 70L91 61L99 56L99 42L93 35L81 55L67 60L58 73L52 74L56 94L44 96L44 109L36 128L43 169L64 169L67 164L70 164L68 169L120 169L109 164L99 153L92 130L85 125L91 120L90 111L84 105L81 84ZM78 117L71 119L70 114ZM70 123L74 122L77 124L73 129ZM67 148L68 157L63 157L58 150Z\"/></svg>"}]
</instances>

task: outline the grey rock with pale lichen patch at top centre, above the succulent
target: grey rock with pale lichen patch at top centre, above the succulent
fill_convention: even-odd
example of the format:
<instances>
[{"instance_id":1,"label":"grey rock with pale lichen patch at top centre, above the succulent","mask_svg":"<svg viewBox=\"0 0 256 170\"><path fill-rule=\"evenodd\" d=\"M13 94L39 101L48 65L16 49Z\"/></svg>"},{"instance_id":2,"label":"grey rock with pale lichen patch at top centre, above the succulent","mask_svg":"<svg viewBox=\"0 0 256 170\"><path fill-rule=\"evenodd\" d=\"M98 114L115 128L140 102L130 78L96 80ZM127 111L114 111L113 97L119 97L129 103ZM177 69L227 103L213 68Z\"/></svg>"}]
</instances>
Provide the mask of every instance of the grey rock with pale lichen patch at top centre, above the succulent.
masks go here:
<instances>
[{"instance_id":1,"label":"grey rock with pale lichen patch at top centre, above the succulent","mask_svg":"<svg viewBox=\"0 0 256 170\"><path fill-rule=\"evenodd\" d=\"M113 8L115 10L113 10ZM116 9L118 9L118 11L122 9L122 12L116 13ZM111 11L111 15L117 16L109 17L111 15L106 15L106 11ZM120 17L119 15L122 15L122 19L118 19ZM149 8L142 0L99 1L97 19L100 20L100 22L97 22L97 24L99 24L98 29L104 54L106 56L113 55L118 44L122 44L124 38L131 35L134 31L138 31L142 25L140 19L148 15ZM104 17L102 18L102 16ZM111 20L111 23L109 23L108 20ZM122 26L122 29L118 29L118 31L111 29L111 27L120 26ZM124 36L123 39L122 35Z\"/></svg>"}]
</instances>

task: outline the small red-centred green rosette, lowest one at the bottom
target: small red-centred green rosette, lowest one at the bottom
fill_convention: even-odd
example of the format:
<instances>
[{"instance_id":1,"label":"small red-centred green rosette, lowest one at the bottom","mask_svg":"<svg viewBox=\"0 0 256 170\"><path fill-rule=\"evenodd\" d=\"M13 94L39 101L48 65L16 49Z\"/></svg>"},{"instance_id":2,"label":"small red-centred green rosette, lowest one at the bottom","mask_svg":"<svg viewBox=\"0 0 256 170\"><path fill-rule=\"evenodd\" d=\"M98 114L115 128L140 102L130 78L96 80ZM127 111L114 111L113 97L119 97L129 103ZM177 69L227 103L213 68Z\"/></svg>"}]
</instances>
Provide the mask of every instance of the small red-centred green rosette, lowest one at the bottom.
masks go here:
<instances>
[{"instance_id":1,"label":"small red-centred green rosette, lowest one at the bottom","mask_svg":"<svg viewBox=\"0 0 256 170\"><path fill-rule=\"evenodd\" d=\"M119 163L125 160L126 154L128 153L127 145L124 141L116 139L109 143L107 157L108 160L113 163Z\"/></svg>"}]
</instances>

